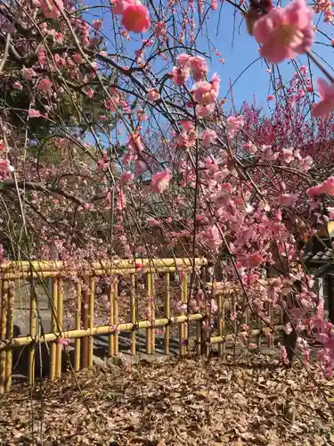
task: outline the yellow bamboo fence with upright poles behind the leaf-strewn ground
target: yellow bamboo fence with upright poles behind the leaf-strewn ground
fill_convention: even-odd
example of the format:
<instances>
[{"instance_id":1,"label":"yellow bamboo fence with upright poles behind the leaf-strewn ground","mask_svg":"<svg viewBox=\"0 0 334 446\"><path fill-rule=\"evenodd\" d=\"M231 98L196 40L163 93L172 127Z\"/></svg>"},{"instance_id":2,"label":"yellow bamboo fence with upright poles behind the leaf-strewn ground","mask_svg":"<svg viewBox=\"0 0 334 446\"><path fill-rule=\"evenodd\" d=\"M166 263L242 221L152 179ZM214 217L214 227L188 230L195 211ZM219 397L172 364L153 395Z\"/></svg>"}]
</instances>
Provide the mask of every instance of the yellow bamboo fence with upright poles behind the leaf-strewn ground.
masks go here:
<instances>
[{"instance_id":1,"label":"yellow bamboo fence with upright poles behind the leaf-strewn ground","mask_svg":"<svg viewBox=\"0 0 334 446\"><path fill-rule=\"evenodd\" d=\"M1 306L0 306L0 393L10 392L12 386L12 351L17 348L29 349L28 360L28 378L29 385L35 383L35 354L38 343L47 343L50 345L50 373L49 378L53 381L61 376L61 351L60 340L74 340L74 364L75 371L80 368L89 368L94 363L94 335L108 336L108 354L110 356L118 355L118 334L121 332L130 332L131 354L136 354L136 336L140 329L146 330L146 353L152 354L155 350L155 330L164 328L164 353L170 353L170 330L176 325L179 327L179 354L184 356L187 353L189 324L193 321L196 324L196 352L208 355L212 344L218 344L218 354L224 355L226 341L235 339L235 334L225 332L224 322L224 298L232 291L224 287L224 292L220 291L216 283L206 283L204 274L207 260L198 259L159 259L159 260L115 260L95 262L92 265L82 264L76 267L67 265L62 261L9 261L0 268L1 280ZM171 279L170 275L181 271L180 296L183 303L183 310L180 315L171 315ZM204 273L203 273L204 271ZM193 276L192 273L195 272ZM137 314L137 277L142 275L145 279L145 290L149 296L148 318L138 320ZM156 318L155 315L155 277L164 275L164 315ZM76 285L76 310L74 329L64 330L63 312L64 312L64 293L62 282L68 277L78 277ZM95 306L95 286L98 277L108 277L110 286L108 297L110 301L109 323L106 325L94 325L94 306ZM120 277L129 277L131 284L130 293L130 320L126 323L120 323L118 318L118 281ZM38 323L38 296L35 283L37 280L52 279L51 307L52 307L52 325L51 331L40 335L37 331ZM14 293L12 284L18 280L26 280L30 284L29 296L29 335L13 336L13 309ZM184 310L190 299L190 287L199 289L202 285L210 293L216 288L216 327L215 336L205 334L202 329L203 321L208 315L199 313L188 313ZM212 293L214 294L214 293ZM268 309L269 312L271 309ZM272 316L272 315L271 315ZM248 322L248 310L245 314L245 322ZM275 326L275 330L281 329L281 326ZM248 332L240 332L239 335L260 336L265 335L272 329L263 327L261 324L256 329ZM272 341L271 341L272 345Z\"/></svg>"}]
</instances>

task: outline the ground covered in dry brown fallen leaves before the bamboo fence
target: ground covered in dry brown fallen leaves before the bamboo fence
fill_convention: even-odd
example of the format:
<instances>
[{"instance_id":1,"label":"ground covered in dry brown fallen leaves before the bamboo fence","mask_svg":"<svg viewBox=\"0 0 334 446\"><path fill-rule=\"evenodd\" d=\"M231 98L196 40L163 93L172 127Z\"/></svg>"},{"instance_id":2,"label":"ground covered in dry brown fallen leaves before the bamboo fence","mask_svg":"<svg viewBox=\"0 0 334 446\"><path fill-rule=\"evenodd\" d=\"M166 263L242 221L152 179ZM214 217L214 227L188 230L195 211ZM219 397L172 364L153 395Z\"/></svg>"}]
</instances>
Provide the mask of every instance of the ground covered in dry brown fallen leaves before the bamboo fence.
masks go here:
<instances>
[{"instance_id":1,"label":"ground covered in dry brown fallen leaves before the bamboo fence","mask_svg":"<svg viewBox=\"0 0 334 446\"><path fill-rule=\"evenodd\" d=\"M5 396L1 445L334 444L334 382L313 374L265 357L92 368Z\"/></svg>"}]
</instances>

